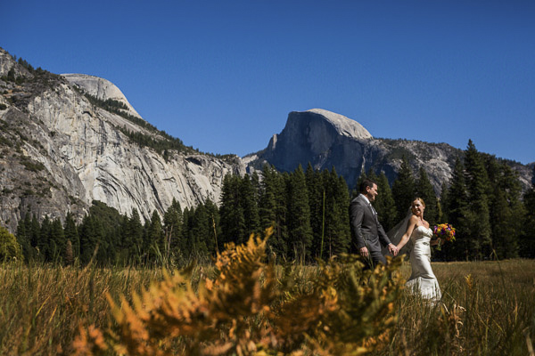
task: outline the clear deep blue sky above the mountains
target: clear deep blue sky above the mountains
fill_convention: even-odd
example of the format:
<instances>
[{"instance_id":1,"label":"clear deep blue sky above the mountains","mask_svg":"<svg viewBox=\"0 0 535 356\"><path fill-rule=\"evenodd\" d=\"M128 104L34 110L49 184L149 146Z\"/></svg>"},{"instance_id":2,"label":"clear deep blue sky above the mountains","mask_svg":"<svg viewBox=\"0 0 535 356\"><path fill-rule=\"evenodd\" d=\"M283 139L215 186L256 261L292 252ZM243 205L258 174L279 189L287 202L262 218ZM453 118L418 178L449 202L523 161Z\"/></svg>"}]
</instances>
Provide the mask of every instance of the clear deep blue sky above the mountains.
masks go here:
<instances>
[{"instance_id":1,"label":"clear deep blue sky above the mountains","mask_svg":"<svg viewBox=\"0 0 535 356\"><path fill-rule=\"evenodd\" d=\"M0 46L243 156L293 110L535 161L535 1L2 1Z\"/></svg>"}]
</instances>

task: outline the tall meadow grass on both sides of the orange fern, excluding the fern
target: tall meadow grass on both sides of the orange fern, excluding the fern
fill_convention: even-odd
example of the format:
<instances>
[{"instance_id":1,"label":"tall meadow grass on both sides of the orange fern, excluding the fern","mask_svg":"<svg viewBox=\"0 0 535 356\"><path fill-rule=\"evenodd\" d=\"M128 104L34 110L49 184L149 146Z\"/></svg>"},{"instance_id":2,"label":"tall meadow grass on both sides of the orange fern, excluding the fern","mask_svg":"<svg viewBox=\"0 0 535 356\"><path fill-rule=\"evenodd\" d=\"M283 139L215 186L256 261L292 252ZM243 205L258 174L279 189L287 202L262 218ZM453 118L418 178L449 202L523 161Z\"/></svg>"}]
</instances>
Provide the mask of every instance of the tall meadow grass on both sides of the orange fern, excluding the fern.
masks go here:
<instances>
[{"instance_id":1,"label":"tall meadow grass on both sides of the orange fern, excluding the fern","mask_svg":"<svg viewBox=\"0 0 535 356\"><path fill-rule=\"evenodd\" d=\"M442 303L430 305L408 291L402 293L393 306L396 322L381 337L383 347L370 349L369 354L533 355L535 261L432 263L432 268L440 282ZM276 271L278 280L283 280L284 272ZM213 277L211 267L196 267L190 272L193 286L207 275ZM400 272L407 278L410 265L403 263ZM314 289L312 280L318 279L321 270L319 266L295 265L287 266L285 273L292 273L292 293L306 295ZM106 294L115 301L123 295L132 303L134 292L164 279L159 269L3 264L0 354L72 354L80 326L103 330L117 326ZM285 297L287 302L294 295ZM297 318L300 312L308 311L293 312ZM347 322L350 325L350 320ZM313 328L301 327L309 335L313 332ZM307 337L300 340L314 343ZM177 351L184 350L179 344Z\"/></svg>"}]
</instances>

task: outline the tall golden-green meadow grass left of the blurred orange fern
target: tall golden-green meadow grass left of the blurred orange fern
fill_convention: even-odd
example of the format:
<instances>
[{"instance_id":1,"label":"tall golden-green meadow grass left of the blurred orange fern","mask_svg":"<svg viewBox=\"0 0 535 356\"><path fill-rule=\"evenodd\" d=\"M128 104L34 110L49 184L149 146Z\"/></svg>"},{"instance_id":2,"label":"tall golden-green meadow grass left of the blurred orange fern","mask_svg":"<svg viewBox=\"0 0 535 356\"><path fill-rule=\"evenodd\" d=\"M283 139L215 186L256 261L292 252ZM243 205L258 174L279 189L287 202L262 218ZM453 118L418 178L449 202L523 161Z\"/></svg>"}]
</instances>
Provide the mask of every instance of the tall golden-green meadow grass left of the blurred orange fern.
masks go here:
<instances>
[{"instance_id":1,"label":"tall golden-green meadow grass left of the blurred orange fern","mask_svg":"<svg viewBox=\"0 0 535 356\"><path fill-rule=\"evenodd\" d=\"M0 354L72 354L80 325L103 325L106 293L132 290L160 279L160 270L4 264L0 267Z\"/></svg>"}]
</instances>

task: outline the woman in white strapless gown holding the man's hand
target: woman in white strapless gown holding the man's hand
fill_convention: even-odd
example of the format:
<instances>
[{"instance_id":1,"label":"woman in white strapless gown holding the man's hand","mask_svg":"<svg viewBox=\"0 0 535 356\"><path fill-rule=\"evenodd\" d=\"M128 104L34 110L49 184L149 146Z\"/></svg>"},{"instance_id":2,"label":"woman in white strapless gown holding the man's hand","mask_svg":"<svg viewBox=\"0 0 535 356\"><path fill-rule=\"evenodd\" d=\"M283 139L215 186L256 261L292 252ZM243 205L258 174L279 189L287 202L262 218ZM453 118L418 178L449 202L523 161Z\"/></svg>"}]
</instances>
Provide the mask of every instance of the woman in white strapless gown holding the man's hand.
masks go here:
<instances>
[{"instance_id":1,"label":"woman in white strapless gown holding the man's hand","mask_svg":"<svg viewBox=\"0 0 535 356\"><path fill-rule=\"evenodd\" d=\"M391 242L398 242L398 250L411 242L410 265L412 274L407 280L407 288L432 303L440 301L441 293L439 282L431 268L431 245L436 245L438 240L431 241L432 230L429 223L424 220L425 203L422 198L416 198L409 209L407 217L390 232ZM401 236L401 234L403 234ZM400 239L399 239L400 237Z\"/></svg>"}]
</instances>

